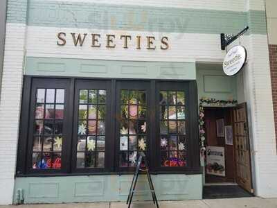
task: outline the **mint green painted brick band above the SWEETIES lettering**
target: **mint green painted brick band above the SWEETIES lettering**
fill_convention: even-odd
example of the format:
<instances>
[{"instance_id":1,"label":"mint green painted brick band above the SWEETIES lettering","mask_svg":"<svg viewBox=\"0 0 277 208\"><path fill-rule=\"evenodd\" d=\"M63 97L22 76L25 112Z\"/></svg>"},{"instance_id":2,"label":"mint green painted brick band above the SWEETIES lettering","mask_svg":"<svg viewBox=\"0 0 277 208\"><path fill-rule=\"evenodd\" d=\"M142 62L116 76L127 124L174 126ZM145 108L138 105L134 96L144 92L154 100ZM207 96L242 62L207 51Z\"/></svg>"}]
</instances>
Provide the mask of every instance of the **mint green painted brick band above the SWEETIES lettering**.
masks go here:
<instances>
[{"instance_id":1,"label":"mint green painted brick band above the SWEETIES lettering","mask_svg":"<svg viewBox=\"0 0 277 208\"><path fill-rule=\"evenodd\" d=\"M24 3L8 4L8 22L20 23ZM17 2L26 2L18 0ZM204 10L69 1L28 1L28 25L120 31L220 34L241 31L267 34L265 11Z\"/></svg>"}]
</instances>

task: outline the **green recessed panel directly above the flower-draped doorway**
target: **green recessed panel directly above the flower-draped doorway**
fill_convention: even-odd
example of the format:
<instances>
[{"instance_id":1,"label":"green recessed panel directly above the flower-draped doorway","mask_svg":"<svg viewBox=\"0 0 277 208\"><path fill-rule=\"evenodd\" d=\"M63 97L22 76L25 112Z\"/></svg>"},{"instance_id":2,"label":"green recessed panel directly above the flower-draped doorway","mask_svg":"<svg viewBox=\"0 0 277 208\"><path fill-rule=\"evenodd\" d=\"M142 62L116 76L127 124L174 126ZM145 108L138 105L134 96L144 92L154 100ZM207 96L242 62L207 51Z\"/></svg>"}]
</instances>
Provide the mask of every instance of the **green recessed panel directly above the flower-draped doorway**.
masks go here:
<instances>
[{"instance_id":1,"label":"green recessed panel directly above the flower-draped doorway","mask_svg":"<svg viewBox=\"0 0 277 208\"><path fill-rule=\"evenodd\" d=\"M223 70L197 69L197 87L199 98L237 99L237 78L224 75Z\"/></svg>"}]
</instances>

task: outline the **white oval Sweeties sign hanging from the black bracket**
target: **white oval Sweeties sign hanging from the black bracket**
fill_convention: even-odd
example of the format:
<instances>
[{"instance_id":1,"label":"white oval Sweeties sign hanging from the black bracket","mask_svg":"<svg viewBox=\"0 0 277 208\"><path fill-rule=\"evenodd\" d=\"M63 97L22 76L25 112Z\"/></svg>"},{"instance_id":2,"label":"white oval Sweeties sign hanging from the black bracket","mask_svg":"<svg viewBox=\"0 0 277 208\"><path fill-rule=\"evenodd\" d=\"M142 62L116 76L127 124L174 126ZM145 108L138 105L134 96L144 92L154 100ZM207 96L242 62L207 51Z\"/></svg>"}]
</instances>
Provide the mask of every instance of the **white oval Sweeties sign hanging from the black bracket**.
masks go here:
<instances>
[{"instance_id":1,"label":"white oval Sweeties sign hanging from the black bracket","mask_svg":"<svg viewBox=\"0 0 277 208\"><path fill-rule=\"evenodd\" d=\"M247 50L244 46L233 46L223 61L223 71L227 76L233 76L244 67L247 61Z\"/></svg>"}]
</instances>

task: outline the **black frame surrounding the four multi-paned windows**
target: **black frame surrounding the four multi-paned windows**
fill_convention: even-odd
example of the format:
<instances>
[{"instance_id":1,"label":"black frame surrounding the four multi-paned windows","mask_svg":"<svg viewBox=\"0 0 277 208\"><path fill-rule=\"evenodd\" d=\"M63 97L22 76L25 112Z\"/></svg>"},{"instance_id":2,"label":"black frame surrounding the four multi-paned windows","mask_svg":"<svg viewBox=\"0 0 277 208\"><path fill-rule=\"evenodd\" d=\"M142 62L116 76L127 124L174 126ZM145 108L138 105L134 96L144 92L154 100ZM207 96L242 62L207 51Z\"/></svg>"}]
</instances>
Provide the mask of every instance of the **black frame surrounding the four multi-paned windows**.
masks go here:
<instances>
[{"instance_id":1,"label":"black frame surrounding the four multi-paned windows","mask_svg":"<svg viewBox=\"0 0 277 208\"><path fill-rule=\"evenodd\" d=\"M45 80L42 82L42 80ZM27 148L33 145L33 141L28 139L28 131L30 129L30 122L32 117L30 111L32 110L32 90L37 84L48 84L49 86L58 85L59 80L66 82L66 96L67 112L66 112L66 137L64 150L64 166L60 170L32 170L30 169L30 151ZM77 138L75 134L77 130L76 116L78 111L76 110L76 102L78 99L77 86L80 85L83 89L90 89L87 86L96 86L91 83L106 83L107 94L109 94L109 110L107 110L107 120L110 130L106 135L105 141L105 153L109 152L111 155L105 155L105 168L75 168L75 145ZM80 83L80 84L78 84ZM17 177L26 176L47 176L47 175L110 175L110 174L130 174L134 171L134 168L120 168L118 166L118 151L119 151L119 128L118 128L118 115L117 107L119 102L119 89L120 83L123 83L121 88L130 87L130 89L146 89L148 93L148 123L151 123L151 128L148 125L147 137L148 137L148 160L151 167L151 172L154 174L201 174L202 169L200 167L199 156L199 134L198 134L198 98L197 98L197 84L196 80L151 80L151 79L130 79L130 78L79 78L79 77L62 77L62 76L24 76L24 87L22 89L21 100L21 116L19 125L19 145L17 153ZM148 85L147 87L142 84ZM35 85L34 85L35 84ZM53 85L52 85L53 84ZM78 85L77 85L78 84ZM102 85L102 84L100 84ZM101 87L101 86L98 87ZM162 87L161 87L162 86ZM176 87L178 86L178 87ZM186 128L188 129L188 165L182 167L161 167L159 163L159 90L175 90L183 89L180 86L184 86L186 89L186 120L189 123ZM80 88L79 87L79 88ZM97 87L97 86L96 86ZM51 88L51 87L49 87ZM91 88L92 89L92 88ZM108 97L108 96L107 96ZM153 110L155 109L155 110ZM107 125L107 124L106 124ZM108 128L109 128L108 127ZM107 127L106 127L107 129ZM108 139L107 139L108 138ZM107 158L107 159L106 159Z\"/></svg>"}]
</instances>

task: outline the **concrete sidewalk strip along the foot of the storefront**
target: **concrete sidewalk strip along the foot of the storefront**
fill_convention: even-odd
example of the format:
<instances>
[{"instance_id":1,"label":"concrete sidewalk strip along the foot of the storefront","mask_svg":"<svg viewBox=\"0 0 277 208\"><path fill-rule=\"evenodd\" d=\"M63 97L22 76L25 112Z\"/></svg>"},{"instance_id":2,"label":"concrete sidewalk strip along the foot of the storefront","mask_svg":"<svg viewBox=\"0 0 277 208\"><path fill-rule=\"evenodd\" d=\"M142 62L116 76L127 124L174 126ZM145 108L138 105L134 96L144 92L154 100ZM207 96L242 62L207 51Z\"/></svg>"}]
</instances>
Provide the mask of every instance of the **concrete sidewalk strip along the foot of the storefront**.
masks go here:
<instances>
[{"instance_id":1,"label":"concrete sidewalk strip along the foot of the storefront","mask_svg":"<svg viewBox=\"0 0 277 208\"><path fill-rule=\"evenodd\" d=\"M93 202L49 205L10 205L0 208L122 208L127 205L123 202ZM155 208L152 202L134 202L133 208ZM161 208L277 208L277 198L231 198L217 200L186 200L159 202Z\"/></svg>"}]
</instances>

